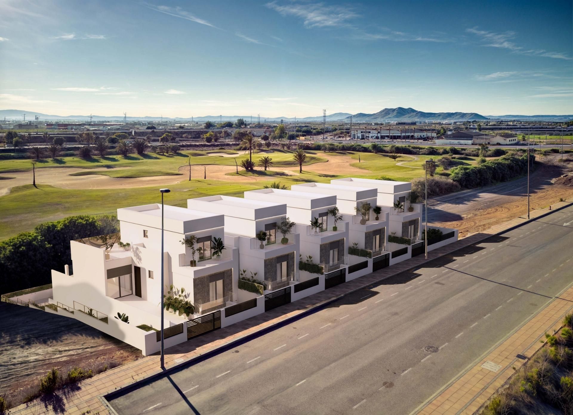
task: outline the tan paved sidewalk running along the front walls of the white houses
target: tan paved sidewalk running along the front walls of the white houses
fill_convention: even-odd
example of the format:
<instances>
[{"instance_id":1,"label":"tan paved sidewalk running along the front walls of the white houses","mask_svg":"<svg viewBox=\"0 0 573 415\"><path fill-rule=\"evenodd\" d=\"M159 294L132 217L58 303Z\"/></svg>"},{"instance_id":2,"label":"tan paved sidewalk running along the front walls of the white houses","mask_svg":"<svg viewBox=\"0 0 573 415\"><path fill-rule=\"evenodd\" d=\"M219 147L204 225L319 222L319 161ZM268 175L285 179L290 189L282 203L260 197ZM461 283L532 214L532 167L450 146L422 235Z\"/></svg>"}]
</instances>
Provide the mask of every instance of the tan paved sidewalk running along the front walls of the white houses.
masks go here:
<instances>
[{"instance_id":1,"label":"tan paved sidewalk running along the front walls of the white houses","mask_svg":"<svg viewBox=\"0 0 573 415\"><path fill-rule=\"evenodd\" d=\"M567 203L555 204L554 209L566 204ZM547 212L547 210L538 210L532 212L531 217L535 218ZM525 218L516 218L493 227L491 231L466 236L457 242L430 251L428 253L428 261L452 253L453 251L465 246L478 243L497 232L502 232L526 221L527 219ZM199 338L191 339L185 343L170 347L166 349L165 366L167 369L170 369L183 364L189 359L197 358L198 356L217 350L219 347L225 346L229 343L256 335L256 333L272 328L274 325L288 321L293 317L300 316L312 309L319 308L328 302L343 297L346 294L366 288L371 284L375 284L376 282L391 277L394 274L421 266L425 262L426 260L424 255L418 255L418 257L411 258L391 267L367 274L366 276L356 278L356 280L345 282L344 284L337 285L312 296L278 307L272 311L240 321L239 323L230 325L229 327L218 329L217 331L207 333ZM32 402L28 402L28 404L19 405L16 408L11 409L9 413L21 415L54 413L72 415L99 413L100 415L113 415L108 406L105 405L101 396L156 373L159 373L159 356L146 356L142 359L136 360L135 362L124 364L123 366L108 370L107 372L88 379L87 381L81 382L79 387L73 391L60 391L49 399L39 398ZM90 412L88 412L88 410Z\"/></svg>"}]
</instances>

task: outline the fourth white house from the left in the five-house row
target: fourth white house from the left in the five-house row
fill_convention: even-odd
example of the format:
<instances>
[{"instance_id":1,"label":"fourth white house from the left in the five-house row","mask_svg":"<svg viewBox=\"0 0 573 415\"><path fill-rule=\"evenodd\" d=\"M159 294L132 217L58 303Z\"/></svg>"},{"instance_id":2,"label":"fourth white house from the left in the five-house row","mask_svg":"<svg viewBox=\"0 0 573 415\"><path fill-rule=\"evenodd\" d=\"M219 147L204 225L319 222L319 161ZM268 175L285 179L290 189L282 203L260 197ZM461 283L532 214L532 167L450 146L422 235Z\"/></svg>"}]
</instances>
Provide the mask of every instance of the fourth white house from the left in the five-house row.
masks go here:
<instances>
[{"instance_id":1,"label":"fourth white house from the left in the five-house row","mask_svg":"<svg viewBox=\"0 0 573 415\"><path fill-rule=\"evenodd\" d=\"M367 265L354 272L356 278L372 272L372 259L386 253L388 242L388 213L375 211L377 190L373 187L344 186L327 183L303 183L291 187L293 191L307 192L316 195L336 196L342 220L348 223L348 265L367 261ZM368 259L366 259L368 258ZM352 268L350 269L352 270ZM350 271L349 270L349 271ZM348 280L348 278L347 278Z\"/></svg>"}]
</instances>

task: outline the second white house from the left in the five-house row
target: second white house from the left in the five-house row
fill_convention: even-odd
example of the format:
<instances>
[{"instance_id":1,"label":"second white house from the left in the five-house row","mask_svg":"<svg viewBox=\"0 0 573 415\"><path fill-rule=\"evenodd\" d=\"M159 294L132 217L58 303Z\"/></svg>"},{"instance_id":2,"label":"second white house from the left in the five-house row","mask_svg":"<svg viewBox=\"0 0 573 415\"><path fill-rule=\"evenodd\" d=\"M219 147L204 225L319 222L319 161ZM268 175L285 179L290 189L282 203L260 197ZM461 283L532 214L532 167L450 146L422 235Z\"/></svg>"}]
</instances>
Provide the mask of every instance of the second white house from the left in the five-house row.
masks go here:
<instances>
[{"instance_id":1,"label":"second white house from the left in the five-house row","mask_svg":"<svg viewBox=\"0 0 573 415\"><path fill-rule=\"evenodd\" d=\"M286 204L219 195L188 199L187 206L225 215L225 245L238 248L240 274L264 282L266 292L298 281L299 234L280 233Z\"/></svg>"}]
</instances>

